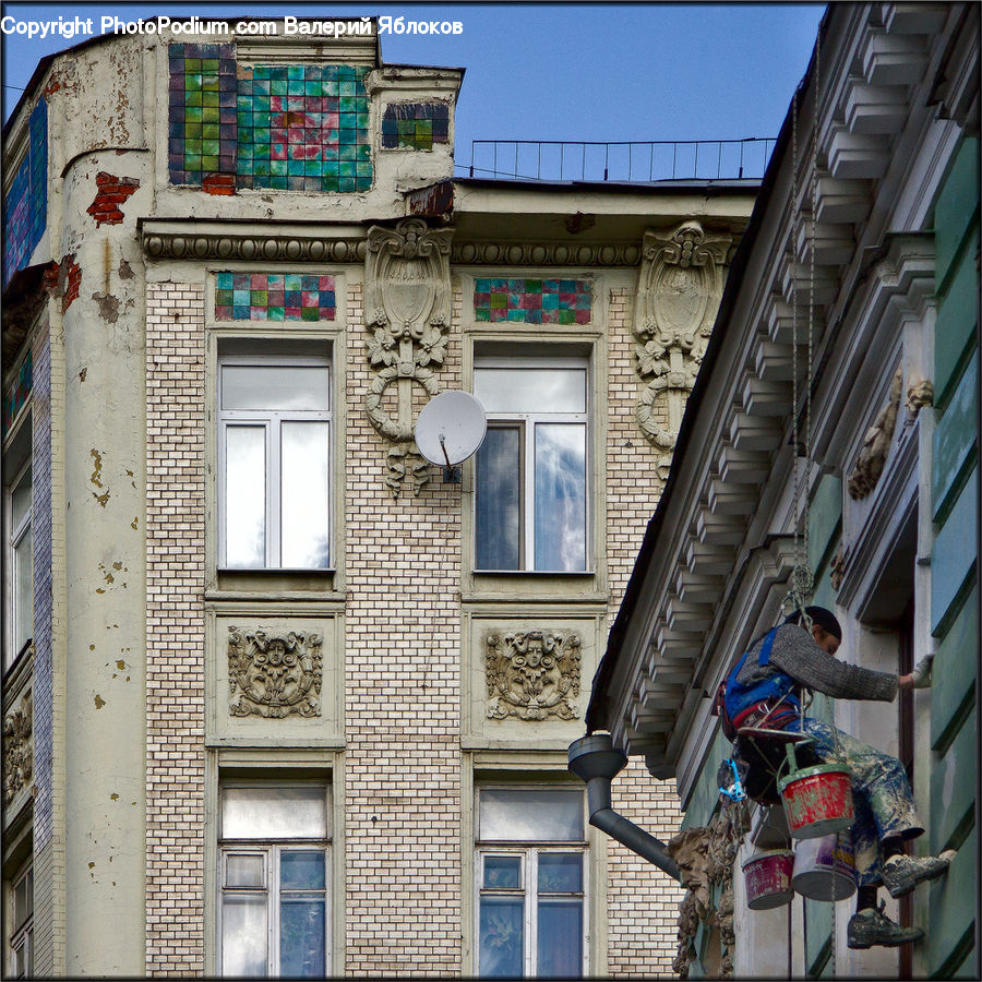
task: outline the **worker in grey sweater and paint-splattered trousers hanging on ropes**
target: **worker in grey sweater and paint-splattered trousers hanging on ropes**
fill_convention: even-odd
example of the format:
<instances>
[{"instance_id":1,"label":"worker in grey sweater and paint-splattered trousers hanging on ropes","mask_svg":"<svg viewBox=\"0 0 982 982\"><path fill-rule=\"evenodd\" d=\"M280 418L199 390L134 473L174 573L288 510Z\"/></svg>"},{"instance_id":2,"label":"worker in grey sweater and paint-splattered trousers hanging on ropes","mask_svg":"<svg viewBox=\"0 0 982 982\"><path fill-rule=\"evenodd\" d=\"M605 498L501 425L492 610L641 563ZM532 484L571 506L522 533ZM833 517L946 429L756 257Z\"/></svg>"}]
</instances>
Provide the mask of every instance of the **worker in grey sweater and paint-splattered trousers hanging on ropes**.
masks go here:
<instances>
[{"instance_id":1,"label":"worker in grey sweater and paint-splattered trousers hanging on ropes","mask_svg":"<svg viewBox=\"0 0 982 982\"><path fill-rule=\"evenodd\" d=\"M724 708L733 729L765 728L802 732L821 763L845 764L851 775L852 845L859 893L849 921L850 948L895 947L919 941L920 927L903 927L876 906L879 885L891 897L909 894L919 883L942 875L954 852L912 857L903 843L924 829L914 811L913 792L903 765L889 754L861 743L830 723L803 716L803 690L839 699L893 702L899 688L931 684L933 655L910 674L893 675L836 660L842 628L824 607L806 607L758 638L727 680Z\"/></svg>"}]
</instances>

